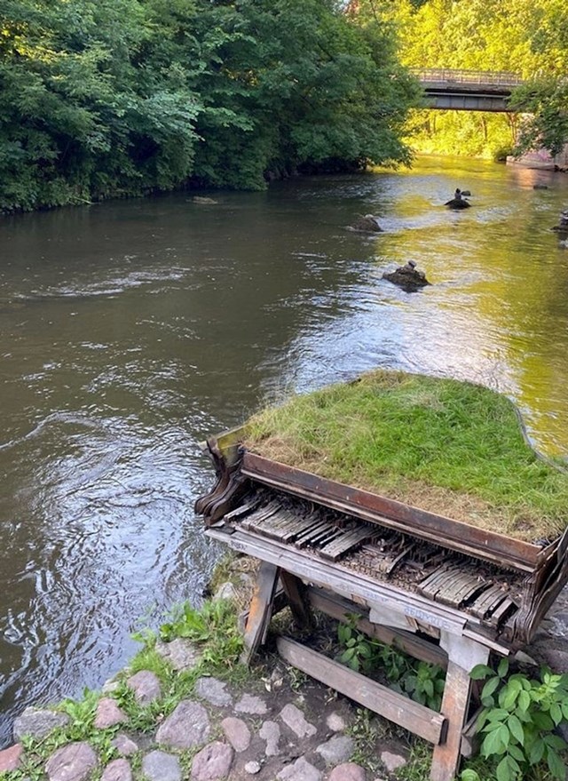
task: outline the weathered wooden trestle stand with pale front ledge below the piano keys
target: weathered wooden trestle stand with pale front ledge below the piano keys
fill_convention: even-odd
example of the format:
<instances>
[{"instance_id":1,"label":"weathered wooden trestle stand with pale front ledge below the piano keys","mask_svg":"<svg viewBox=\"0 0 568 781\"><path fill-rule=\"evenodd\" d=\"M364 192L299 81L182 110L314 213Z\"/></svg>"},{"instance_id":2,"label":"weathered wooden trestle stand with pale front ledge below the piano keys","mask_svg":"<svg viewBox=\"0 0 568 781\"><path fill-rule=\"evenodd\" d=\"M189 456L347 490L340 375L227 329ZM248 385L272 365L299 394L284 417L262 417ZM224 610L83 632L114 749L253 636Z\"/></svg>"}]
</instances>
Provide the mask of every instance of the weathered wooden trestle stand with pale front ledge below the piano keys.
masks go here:
<instances>
[{"instance_id":1,"label":"weathered wooden trestle stand with pale front ledge below the piano keys","mask_svg":"<svg viewBox=\"0 0 568 781\"><path fill-rule=\"evenodd\" d=\"M401 592L403 598L398 600L398 594L393 593L396 588L380 586L338 566L318 567L307 556L303 561L304 557L297 552L290 554L286 546L258 540L244 532L227 534L209 529L206 534L261 562L248 610L243 661L248 663L264 643L272 613L289 604L299 626L310 625L312 609L339 620L355 614L360 617L358 626L362 632L446 668L441 713L437 713L299 642L285 637L277 640L280 656L288 664L429 741L434 746L431 781L452 781L461 753L470 753L465 739L462 745L472 687L469 673L475 665L487 663L490 650L504 655L509 650L489 639L470 636L465 615L463 621L456 620L455 610L444 615L443 606L434 613L431 603L424 600L422 607L421 598L416 595L411 603L408 594ZM285 602L275 601L279 582ZM417 631L438 635L439 644L416 636Z\"/></svg>"}]
</instances>

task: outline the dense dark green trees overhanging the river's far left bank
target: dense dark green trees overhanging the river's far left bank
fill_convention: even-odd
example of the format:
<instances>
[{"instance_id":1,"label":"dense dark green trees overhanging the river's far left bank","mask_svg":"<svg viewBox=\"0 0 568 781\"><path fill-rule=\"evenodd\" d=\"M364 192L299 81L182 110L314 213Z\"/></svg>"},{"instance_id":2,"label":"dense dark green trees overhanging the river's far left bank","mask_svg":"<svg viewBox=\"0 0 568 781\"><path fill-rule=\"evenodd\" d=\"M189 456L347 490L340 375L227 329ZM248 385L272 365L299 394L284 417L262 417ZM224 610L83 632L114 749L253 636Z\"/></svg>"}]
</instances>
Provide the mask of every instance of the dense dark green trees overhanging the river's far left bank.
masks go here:
<instances>
[{"instance_id":1,"label":"dense dark green trees overhanging the river's far left bank","mask_svg":"<svg viewBox=\"0 0 568 781\"><path fill-rule=\"evenodd\" d=\"M4 0L0 210L407 162L416 95L334 0Z\"/></svg>"}]
</instances>

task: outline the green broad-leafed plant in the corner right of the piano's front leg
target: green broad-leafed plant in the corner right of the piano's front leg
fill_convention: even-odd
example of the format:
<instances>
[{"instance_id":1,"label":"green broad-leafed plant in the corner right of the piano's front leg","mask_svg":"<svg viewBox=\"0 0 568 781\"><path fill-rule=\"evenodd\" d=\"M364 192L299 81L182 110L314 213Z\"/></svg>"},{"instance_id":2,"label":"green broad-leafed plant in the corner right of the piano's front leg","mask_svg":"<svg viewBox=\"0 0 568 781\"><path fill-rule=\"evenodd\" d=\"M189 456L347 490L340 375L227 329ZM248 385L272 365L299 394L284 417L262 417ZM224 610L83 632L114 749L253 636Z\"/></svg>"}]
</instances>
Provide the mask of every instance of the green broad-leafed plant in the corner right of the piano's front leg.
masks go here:
<instances>
[{"instance_id":1,"label":"green broad-leafed plant in the corner right of the piano's front leg","mask_svg":"<svg viewBox=\"0 0 568 781\"><path fill-rule=\"evenodd\" d=\"M497 781L518 781L540 763L546 763L552 777L564 779L566 767L560 753L568 745L554 729L568 718L568 675L542 669L540 680L523 673L509 676L509 660L501 659L497 673L487 665L477 665L471 677L487 678L477 730L484 735L482 755L497 761Z\"/></svg>"}]
</instances>

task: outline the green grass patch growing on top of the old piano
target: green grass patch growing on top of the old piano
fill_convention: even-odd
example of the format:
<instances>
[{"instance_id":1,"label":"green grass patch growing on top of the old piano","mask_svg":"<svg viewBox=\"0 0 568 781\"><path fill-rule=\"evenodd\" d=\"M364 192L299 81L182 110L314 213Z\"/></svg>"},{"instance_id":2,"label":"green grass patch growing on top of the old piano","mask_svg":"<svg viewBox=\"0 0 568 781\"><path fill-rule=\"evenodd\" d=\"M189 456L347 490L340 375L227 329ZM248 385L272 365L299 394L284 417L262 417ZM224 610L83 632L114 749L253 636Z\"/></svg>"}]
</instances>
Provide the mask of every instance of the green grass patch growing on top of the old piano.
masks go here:
<instances>
[{"instance_id":1,"label":"green grass patch growing on top of the old piano","mask_svg":"<svg viewBox=\"0 0 568 781\"><path fill-rule=\"evenodd\" d=\"M535 542L568 525L568 472L516 407L471 383L393 371L297 395L248 421L265 458Z\"/></svg>"}]
</instances>

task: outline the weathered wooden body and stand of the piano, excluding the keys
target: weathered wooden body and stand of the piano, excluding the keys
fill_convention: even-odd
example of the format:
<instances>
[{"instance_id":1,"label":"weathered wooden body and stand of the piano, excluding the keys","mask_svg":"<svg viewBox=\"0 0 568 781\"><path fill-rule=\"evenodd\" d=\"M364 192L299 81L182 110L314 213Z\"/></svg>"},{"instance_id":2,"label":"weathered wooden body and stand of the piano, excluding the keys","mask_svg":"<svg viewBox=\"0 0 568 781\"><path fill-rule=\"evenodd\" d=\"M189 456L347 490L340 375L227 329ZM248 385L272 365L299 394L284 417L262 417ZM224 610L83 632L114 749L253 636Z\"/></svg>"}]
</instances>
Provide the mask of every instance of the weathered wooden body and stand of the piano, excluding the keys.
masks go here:
<instances>
[{"instance_id":1,"label":"weathered wooden body and stand of the piano, excluding the keys","mask_svg":"<svg viewBox=\"0 0 568 781\"><path fill-rule=\"evenodd\" d=\"M280 656L355 702L429 741L433 746L431 781L452 781L461 755L469 756L473 724L469 717L471 670L487 664L491 651L508 656L528 642L540 618L568 579L568 530L541 548L468 524L394 502L366 491L325 481L317 475L242 452L241 431L233 430L205 443L217 471L217 485L197 500L209 538L223 542L261 562L245 629L244 661L264 643L272 613L289 604L299 626L309 626L312 609L338 620L359 616L362 632L396 645L411 656L446 669L441 712L430 710L366 676L324 657L301 643L280 637ZM470 613L432 602L421 594L350 570L341 562L324 562L276 539L259 537L223 518L238 506L248 481L318 500L362 520L377 513L387 527L401 528L450 550L480 556L485 561L525 573L525 598L517 618L502 633ZM279 591L279 584L281 589ZM284 594L285 602L280 595ZM276 598L278 595L278 598ZM427 638L427 639L426 639Z\"/></svg>"}]
</instances>

